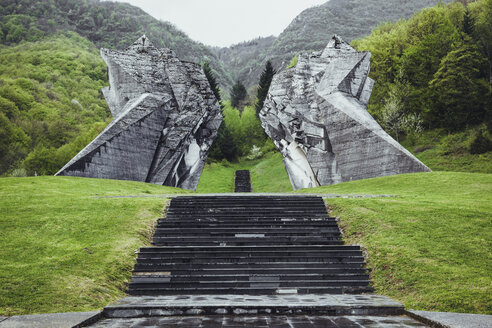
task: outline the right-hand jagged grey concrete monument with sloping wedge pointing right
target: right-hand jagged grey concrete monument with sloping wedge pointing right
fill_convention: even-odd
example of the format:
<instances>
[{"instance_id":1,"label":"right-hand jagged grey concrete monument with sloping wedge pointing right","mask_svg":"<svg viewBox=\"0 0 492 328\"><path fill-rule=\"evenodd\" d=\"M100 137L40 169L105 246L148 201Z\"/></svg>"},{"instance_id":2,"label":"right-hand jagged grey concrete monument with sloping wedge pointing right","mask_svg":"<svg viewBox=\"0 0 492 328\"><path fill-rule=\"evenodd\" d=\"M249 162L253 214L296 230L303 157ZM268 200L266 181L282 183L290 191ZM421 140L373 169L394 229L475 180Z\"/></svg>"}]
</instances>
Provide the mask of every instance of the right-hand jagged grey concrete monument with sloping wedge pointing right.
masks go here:
<instances>
[{"instance_id":1,"label":"right-hand jagged grey concrete monument with sloping wedge pointing right","mask_svg":"<svg viewBox=\"0 0 492 328\"><path fill-rule=\"evenodd\" d=\"M430 171L367 112L370 56L334 36L273 78L260 120L294 189Z\"/></svg>"}]
</instances>

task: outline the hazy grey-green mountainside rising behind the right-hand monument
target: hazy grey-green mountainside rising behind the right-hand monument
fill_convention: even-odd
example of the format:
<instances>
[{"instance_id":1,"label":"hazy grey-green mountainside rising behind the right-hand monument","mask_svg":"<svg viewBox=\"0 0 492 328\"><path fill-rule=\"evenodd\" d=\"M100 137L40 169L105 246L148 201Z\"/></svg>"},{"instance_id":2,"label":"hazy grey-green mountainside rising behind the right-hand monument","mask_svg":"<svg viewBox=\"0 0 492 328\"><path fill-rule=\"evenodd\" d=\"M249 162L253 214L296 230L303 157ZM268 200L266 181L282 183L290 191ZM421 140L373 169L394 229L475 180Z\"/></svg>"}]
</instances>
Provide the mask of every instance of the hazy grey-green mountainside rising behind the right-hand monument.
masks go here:
<instances>
[{"instance_id":1,"label":"hazy grey-green mountainside rising behind the right-hand monument","mask_svg":"<svg viewBox=\"0 0 492 328\"><path fill-rule=\"evenodd\" d=\"M233 64L226 66L227 71L249 88L257 82L267 60L271 60L277 69L284 68L299 52L323 49L333 34L338 34L345 41L361 38L382 22L409 18L420 9L435 6L438 2L439 0L330 0L300 13L271 46L267 47L265 44L265 47L255 49L258 55L248 62L235 66L233 58L228 60L222 54L221 59L226 65ZM448 3L451 0L441 2ZM243 49L247 58L249 49ZM243 56L239 51L231 54L236 58Z\"/></svg>"}]
</instances>

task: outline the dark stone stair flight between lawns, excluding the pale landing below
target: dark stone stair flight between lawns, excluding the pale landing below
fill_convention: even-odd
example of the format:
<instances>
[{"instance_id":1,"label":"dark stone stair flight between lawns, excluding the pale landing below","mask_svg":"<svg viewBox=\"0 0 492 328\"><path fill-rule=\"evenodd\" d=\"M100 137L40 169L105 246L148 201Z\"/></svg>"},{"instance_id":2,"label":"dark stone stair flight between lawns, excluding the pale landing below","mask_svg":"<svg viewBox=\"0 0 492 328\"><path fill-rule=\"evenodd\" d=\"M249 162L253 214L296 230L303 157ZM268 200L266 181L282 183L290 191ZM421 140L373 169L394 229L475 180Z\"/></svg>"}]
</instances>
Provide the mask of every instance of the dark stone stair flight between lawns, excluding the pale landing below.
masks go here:
<instances>
[{"instance_id":1,"label":"dark stone stair flight between lawns, excluding the pale landing below","mask_svg":"<svg viewBox=\"0 0 492 328\"><path fill-rule=\"evenodd\" d=\"M140 250L130 295L371 292L319 197L178 197Z\"/></svg>"}]
</instances>

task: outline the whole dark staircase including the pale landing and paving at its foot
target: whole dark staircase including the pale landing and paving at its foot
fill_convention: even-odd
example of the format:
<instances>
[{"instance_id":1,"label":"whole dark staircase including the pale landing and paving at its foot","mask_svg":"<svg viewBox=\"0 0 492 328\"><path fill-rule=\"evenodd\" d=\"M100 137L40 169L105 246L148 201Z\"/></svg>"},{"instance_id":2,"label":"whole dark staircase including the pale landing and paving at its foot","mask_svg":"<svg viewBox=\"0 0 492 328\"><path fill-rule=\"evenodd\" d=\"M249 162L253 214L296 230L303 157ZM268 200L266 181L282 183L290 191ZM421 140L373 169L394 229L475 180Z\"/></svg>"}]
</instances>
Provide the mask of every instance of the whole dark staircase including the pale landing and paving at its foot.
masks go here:
<instances>
[{"instance_id":1,"label":"whole dark staircase including the pale landing and paving at its foot","mask_svg":"<svg viewBox=\"0 0 492 328\"><path fill-rule=\"evenodd\" d=\"M321 197L177 197L153 244L94 327L424 327L370 294Z\"/></svg>"}]
</instances>

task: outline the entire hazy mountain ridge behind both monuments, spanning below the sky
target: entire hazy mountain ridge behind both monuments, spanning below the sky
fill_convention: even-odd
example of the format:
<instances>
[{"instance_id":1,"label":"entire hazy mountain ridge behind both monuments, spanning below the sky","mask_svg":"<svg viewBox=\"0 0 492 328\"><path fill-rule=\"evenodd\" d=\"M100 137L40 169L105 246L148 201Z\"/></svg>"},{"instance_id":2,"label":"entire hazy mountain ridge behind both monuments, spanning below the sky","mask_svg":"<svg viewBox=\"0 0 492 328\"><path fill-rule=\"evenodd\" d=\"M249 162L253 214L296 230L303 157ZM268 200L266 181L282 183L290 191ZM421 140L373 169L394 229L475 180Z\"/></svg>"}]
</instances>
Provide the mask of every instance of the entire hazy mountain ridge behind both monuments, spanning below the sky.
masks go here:
<instances>
[{"instance_id":1,"label":"entire hazy mountain ridge behind both monuments, spanning below the sky","mask_svg":"<svg viewBox=\"0 0 492 328\"><path fill-rule=\"evenodd\" d=\"M29 36L31 31L33 39L68 29L87 37L99 48L126 48L146 34L156 46L172 49L182 60L196 63L209 61L223 92L227 93L235 80L242 81L247 88L256 85L267 60L271 60L275 68L281 69L301 51L324 48L333 34L351 41L369 34L374 26L383 21L408 18L414 12L438 2L331 0L302 11L278 37L259 37L221 48L194 41L174 24L160 21L127 3L3 0L0 7L0 43L15 44L25 37L22 31L9 29L11 20L21 21L27 31L24 34Z\"/></svg>"}]
</instances>

